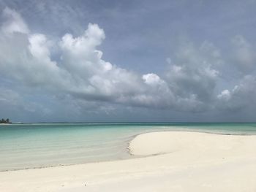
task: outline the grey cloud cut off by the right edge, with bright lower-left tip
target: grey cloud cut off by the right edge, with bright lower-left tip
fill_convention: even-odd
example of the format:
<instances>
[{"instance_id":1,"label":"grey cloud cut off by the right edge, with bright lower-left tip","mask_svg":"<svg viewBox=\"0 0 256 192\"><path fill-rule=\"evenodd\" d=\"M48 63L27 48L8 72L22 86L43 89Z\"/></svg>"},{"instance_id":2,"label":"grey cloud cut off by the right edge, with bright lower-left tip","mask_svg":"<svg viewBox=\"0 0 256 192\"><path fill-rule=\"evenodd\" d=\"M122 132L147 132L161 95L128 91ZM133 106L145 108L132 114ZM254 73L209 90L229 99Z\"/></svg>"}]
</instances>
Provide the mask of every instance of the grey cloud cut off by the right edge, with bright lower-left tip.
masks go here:
<instances>
[{"instance_id":1,"label":"grey cloud cut off by the right edge, with bright lower-left tip","mask_svg":"<svg viewBox=\"0 0 256 192\"><path fill-rule=\"evenodd\" d=\"M256 100L256 56L255 46L242 35L236 35L231 39L230 55L232 60L230 69L235 69L240 73L240 78L236 77L235 86L225 89L217 96L217 109L227 111L246 110L255 107ZM234 69L233 69L234 71Z\"/></svg>"}]
</instances>

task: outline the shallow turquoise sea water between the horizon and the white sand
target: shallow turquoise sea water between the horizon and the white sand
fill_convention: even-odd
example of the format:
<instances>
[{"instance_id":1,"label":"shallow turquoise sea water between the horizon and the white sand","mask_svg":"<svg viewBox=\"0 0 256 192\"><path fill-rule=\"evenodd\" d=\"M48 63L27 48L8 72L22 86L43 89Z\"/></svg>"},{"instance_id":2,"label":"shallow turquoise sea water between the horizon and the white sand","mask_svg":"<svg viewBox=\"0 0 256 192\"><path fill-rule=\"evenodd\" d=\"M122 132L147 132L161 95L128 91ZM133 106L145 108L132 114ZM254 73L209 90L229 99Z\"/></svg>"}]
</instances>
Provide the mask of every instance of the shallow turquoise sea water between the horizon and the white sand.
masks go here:
<instances>
[{"instance_id":1,"label":"shallow turquoise sea water between the horizon and the white sand","mask_svg":"<svg viewBox=\"0 0 256 192\"><path fill-rule=\"evenodd\" d=\"M0 125L0 171L132 158L148 131L256 134L256 123L36 123Z\"/></svg>"}]
</instances>

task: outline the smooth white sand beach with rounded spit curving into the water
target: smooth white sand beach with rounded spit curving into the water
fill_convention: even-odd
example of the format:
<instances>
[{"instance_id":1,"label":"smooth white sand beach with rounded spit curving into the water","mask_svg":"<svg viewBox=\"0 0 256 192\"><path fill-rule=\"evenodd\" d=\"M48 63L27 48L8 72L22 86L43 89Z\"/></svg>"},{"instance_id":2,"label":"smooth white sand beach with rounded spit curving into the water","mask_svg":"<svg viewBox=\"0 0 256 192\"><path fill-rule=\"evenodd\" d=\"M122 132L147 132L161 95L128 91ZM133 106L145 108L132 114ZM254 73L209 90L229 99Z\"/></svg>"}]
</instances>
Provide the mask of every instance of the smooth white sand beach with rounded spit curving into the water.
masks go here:
<instances>
[{"instance_id":1,"label":"smooth white sand beach with rounded spit curving into the water","mask_svg":"<svg viewBox=\"0 0 256 192\"><path fill-rule=\"evenodd\" d=\"M256 136L155 132L129 149L153 156L0 172L0 191L256 191Z\"/></svg>"}]
</instances>

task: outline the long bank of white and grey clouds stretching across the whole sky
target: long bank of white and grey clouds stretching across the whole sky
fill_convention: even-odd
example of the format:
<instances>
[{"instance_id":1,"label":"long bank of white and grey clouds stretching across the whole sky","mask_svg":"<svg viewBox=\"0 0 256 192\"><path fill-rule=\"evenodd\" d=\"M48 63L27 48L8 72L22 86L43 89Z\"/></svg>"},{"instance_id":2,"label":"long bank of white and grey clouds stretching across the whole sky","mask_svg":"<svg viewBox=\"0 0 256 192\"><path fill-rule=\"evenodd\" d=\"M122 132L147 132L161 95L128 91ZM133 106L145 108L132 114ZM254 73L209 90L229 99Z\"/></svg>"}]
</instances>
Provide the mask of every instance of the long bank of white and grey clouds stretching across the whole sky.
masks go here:
<instances>
[{"instance_id":1,"label":"long bank of white and grey clouds stretching across the whole sky","mask_svg":"<svg viewBox=\"0 0 256 192\"><path fill-rule=\"evenodd\" d=\"M229 60L211 42L181 42L167 58L168 67L161 77L105 61L99 46L106 35L97 24L89 23L79 36L64 34L59 39L49 39L46 34L33 33L13 9L5 8L2 18L0 74L15 85L103 110L105 104L108 109L113 104L205 112L241 110L256 103L255 51L241 35L230 40L230 55L234 56ZM234 67L240 74L233 88L219 86L225 81L223 66ZM10 101L18 98L17 93L6 90L1 93L0 102L9 102L8 93L13 95Z\"/></svg>"}]
</instances>

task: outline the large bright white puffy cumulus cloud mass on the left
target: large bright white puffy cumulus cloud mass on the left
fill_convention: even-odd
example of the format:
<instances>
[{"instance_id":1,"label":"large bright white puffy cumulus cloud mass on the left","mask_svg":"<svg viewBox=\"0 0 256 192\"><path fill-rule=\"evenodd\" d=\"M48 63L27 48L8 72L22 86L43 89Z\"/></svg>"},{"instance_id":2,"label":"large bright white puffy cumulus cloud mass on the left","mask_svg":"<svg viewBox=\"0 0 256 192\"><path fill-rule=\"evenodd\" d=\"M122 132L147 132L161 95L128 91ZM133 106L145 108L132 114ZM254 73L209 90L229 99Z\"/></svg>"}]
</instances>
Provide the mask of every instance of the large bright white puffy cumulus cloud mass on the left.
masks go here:
<instances>
[{"instance_id":1,"label":"large bright white puffy cumulus cloud mass on the left","mask_svg":"<svg viewBox=\"0 0 256 192\"><path fill-rule=\"evenodd\" d=\"M4 24L4 28L10 27ZM78 99L129 102L131 97L145 91L146 84L139 74L102 60L102 52L97 46L103 39L102 28L89 23L81 36L65 34L61 38L58 43L61 56L53 61L52 42L45 34L24 34L23 31L6 34L2 28L1 73L26 86L40 86L45 91L61 92Z\"/></svg>"}]
</instances>

